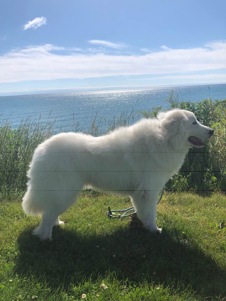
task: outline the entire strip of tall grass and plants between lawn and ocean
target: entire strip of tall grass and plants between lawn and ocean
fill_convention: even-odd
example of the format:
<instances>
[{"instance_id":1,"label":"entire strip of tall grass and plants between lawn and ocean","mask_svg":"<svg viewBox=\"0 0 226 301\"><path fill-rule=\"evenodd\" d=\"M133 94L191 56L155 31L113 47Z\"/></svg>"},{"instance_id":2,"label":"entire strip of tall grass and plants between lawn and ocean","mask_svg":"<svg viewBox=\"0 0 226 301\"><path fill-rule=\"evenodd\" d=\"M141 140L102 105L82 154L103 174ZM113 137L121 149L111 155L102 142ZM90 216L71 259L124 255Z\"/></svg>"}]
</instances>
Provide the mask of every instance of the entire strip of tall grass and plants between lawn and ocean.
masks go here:
<instances>
[{"instance_id":1,"label":"entire strip of tall grass and plants between lawn and ocean","mask_svg":"<svg viewBox=\"0 0 226 301\"><path fill-rule=\"evenodd\" d=\"M202 149L189 150L186 160L174 177L166 183L167 190L225 190L226 187L226 100L211 98L198 103L178 102L172 92L167 100L169 109L182 108L192 111L197 119L215 129L213 137ZM150 111L123 111L112 120L94 117L88 130L77 124L73 131L93 136L106 134L120 126L133 124L137 119L156 117L162 107ZM0 187L3 195L23 194L26 189L26 171L35 148L54 133L54 123L42 124L39 120L22 119L17 129L11 129L5 120L0 124Z\"/></svg>"}]
</instances>

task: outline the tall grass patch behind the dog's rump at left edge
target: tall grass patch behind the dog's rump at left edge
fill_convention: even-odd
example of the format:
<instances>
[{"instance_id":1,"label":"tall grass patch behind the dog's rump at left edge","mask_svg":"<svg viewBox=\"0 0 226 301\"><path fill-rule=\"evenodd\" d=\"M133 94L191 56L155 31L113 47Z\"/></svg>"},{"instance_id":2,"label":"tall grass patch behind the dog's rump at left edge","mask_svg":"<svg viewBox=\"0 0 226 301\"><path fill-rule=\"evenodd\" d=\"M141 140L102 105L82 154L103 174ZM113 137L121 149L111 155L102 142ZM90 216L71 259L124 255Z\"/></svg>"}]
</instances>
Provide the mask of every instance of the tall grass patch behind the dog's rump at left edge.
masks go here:
<instances>
[{"instance_id":1,"label":"tall grass patch behind the dog's rump at left edge","mask_svg":"<svg viewBox=\"0 0 226 301\"><path fill-rule=\"evenodd\" d=\"M26 188L26 171L35 148L53 135L53 123L22 119L17 129L7 120L0 127L1 193L20 193Z\"/></svg>"}]
</instances>

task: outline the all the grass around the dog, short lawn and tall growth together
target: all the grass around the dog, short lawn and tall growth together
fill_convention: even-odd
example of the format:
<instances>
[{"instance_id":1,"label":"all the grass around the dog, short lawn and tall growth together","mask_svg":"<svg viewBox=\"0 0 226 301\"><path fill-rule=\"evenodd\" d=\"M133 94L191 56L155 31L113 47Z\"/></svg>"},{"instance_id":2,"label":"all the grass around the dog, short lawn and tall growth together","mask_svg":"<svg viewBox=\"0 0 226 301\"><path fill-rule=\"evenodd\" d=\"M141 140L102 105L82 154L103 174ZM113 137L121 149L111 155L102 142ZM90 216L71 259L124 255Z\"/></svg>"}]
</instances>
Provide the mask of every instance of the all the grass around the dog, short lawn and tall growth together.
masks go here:
<instances>
[{"instance_id":1,"label":"all the grass around the dog, short lawn and tall growth together","mask_svg":"<svg viewBox=\"0 0 226 301\"><path fill-rule=\"evenodd\" d=\"M168 101L170 108L194 112L215 133L203 152L189 152L166 188L224 190L226 100L179 103L172 92ZM140 114L149 118L160 109ZM137 118L133 111L108 121L97 122L95 116L88 133L98 136ZM223 194L164 195L158 205L159 235L129 228L128 219L106 217L108 205L129 207L128 198L83 193L63 214L66 224L55 227L52 241L31 235L40 220L21 208L26 171L37 145L54 134L53 126L31 119L14 130L4 120L0 126L0 301L75 301L82 294L91 301L226 300ZM73 131L83 129L75 124Z\"/></svg>"}]
</instances>

